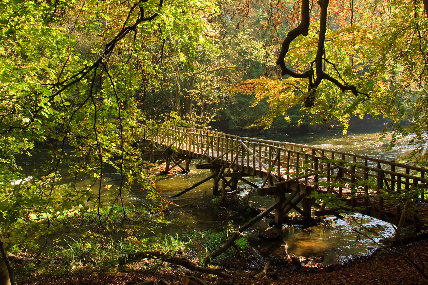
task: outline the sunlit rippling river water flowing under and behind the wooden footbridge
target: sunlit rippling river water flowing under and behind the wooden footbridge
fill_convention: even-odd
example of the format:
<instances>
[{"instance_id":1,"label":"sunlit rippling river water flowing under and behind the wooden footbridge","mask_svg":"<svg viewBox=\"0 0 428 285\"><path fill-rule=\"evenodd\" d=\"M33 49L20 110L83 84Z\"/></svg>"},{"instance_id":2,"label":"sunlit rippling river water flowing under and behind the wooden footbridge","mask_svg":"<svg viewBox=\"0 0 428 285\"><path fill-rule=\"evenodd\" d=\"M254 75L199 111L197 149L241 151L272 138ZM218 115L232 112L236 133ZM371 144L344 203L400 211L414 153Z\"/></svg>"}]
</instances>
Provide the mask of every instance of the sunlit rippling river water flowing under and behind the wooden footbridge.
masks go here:
<instances>
[{"instance_id":1,"label":"sunlit rippling river water flowing under and behind the wooden footbridge","mask_svg":"<svg viewBox=\"0 0 428 285\"><path fill-rule=\"evenodd\" d=\"M384 160L398 161L403 159L412 149L411 146L407 145L410 138L398 141L392 150L386 151L389 143L387 139L379 140L378 134L381 130L381 128L368 128L360 131L350 131L347 135L342 135L342 131L338 129L305 135L270 135L260 138L318 146ZM195 165L196 162L191 165L190 174L172 174L168 175L165 179L160 179L156 182L157 189L161 190L164 195L171 197L211 174L209 170L196 170ZM263 182L258 178L253 178L251 181L259 185ZM241 182L240 185L241 187L245 187L244 182ZM242 191L240 195L245 196L247 193L248 191ZM222 230L224 225L221 224L217 207L211 203L212 198L211 182L206 182L180 197L170 198L177 206L170 207L172 214L168 218L179 218L180 220L188 220L189 222L165 227L163 232L171 235L195 229ZM252 194L250 201L253 206L259 208L266 208L272 204L270 198L258 197L257 194ZM250 218L235 214L233 217L235 228L243 225ZM351 256L368 253L373 247L372 241L369 241L362 235L351 232L352 228L360 229L357 221L379 232L379 236L373 235L373 238L376 240L392 235L393 233L393 229L388 223L358 213L347 215L344 219L340 220L333 220L333 218L327 218L333 226L285 226L282 230L282 238L288 244L288 253L312 258L322 264L335 264ZM270 219L265 219L251 227L246 232L247 239L261 253L284 256L284 248L281 247L283 245L282 241L268 242L259 239L259 229L268 227L269 221Z\"/></svg>"}]
</instances>

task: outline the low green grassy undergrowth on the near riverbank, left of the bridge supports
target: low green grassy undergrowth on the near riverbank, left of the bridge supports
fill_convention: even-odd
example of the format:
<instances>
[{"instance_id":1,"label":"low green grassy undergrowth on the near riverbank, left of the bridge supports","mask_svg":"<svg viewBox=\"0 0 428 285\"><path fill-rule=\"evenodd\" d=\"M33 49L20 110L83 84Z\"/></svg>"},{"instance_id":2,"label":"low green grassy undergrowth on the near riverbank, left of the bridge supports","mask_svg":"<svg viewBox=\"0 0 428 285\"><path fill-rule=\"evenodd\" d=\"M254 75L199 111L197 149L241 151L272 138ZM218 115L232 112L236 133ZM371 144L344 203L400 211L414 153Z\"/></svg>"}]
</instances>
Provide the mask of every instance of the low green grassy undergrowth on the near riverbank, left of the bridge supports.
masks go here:
<instances>
[{"instance_id":1,"label":"low green grassy undergrowth on the near riverbank, left of the bridge supports","mask_svg":"<svg viewBox=\"0 0 428 285\"><path fill-rule=\"evenodd\" d=\"M77 239L68 236L62 240L56 240L56 244L45 248L40 255L26 258L24 264L12 261L17 280L24 282L31 276L45 276L44 278L47 279L55 278L55 276L76 276L82 272L88 272L88 270L114 274L122 270L123 266L134 270L155 272L160 266L160 262L156 260L135 261L126 265L121 262L125 256L150 250L170 255L181 254L193 262L198 262L204 260L209 253L226 241L224 232L211 230L203 232L194 230L181 236L128 237L120 240L100 238L99 236L93 238L94 236L96 235L86 234L86 238ZM248 241L246 238L240 238L236 244L243 253ZM231 248L219 258L224 259L234 255L235 249Z\"/></svg>"}]
</instances>

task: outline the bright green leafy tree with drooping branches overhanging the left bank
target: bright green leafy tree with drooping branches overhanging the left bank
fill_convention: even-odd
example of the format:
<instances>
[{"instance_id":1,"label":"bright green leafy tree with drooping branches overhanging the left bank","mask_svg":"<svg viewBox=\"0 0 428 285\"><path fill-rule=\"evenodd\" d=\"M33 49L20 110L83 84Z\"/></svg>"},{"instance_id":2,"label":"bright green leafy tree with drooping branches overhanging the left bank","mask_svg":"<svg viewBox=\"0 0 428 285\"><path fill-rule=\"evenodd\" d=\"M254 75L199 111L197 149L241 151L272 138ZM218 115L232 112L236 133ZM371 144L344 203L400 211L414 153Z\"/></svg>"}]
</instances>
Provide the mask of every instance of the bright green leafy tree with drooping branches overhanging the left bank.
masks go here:
<instances>
[{"instance_id":1,"label":"bright green leafy tree with drooping branches overhanging the left bank","mask_svg":"<svg viewBox=\"0 0 428 285\"><path fill-rule=\"evenodd\" d=\"M167 39L182 37L194 46L203 37L204 15L215 9L208 1L0 3L3 253L39 252L42 237L74 231L85 211L99 219L95 232L108 232L100 209L123 206L137 182L153 211L165 207L136 148L137 138L158 123L146 116L144 102L148 87L162 80ZM120 185L108 185L106 167ZM89 185L77 185L82 176L90 177ZM163 221L147 209L139 212L146 222ZM122 230L132 235L131 227Z\"/></svg>"}]
</instances>

